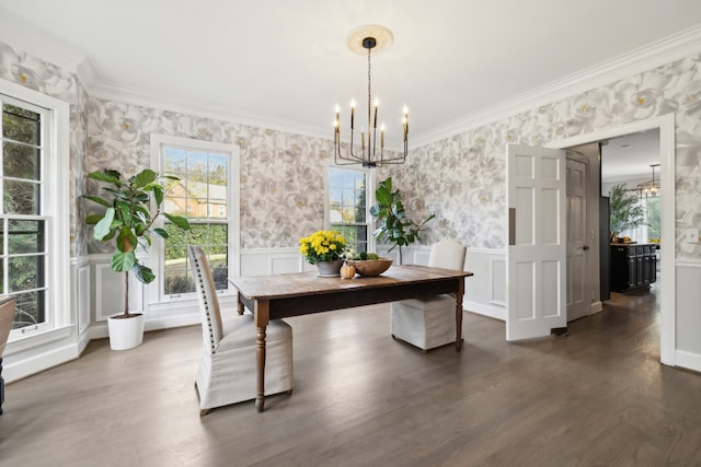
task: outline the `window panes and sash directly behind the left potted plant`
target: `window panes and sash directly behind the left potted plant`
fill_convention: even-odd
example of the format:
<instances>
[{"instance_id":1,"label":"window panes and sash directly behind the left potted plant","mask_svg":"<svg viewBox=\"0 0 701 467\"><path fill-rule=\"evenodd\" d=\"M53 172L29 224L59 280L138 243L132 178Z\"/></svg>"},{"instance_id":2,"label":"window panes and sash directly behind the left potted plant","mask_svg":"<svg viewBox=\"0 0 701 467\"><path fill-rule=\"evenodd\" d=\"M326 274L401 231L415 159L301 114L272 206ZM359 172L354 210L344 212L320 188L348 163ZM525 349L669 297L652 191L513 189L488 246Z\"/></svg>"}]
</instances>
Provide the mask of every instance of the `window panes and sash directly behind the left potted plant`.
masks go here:
<instances>
[{"instance_id":1,"label":"window panes and sash directly behind the left potted plant","mask_svg":"<svg viewBox=\"0 0 701 467\"><path fill-rule=\"evenodd\" d=\"M161 273L157 276L161 297L174 300L195 292L187 245L203 247L217 290L228 291L228 277L238 264L231 250L238 241L239 212L234 147L156 135L152 140L156 140L160 172L180 177L165 197L165 212L186 217L191 225L185 232L163 219L169 238L160 259Z\"/></svg>"}]
</instances>

